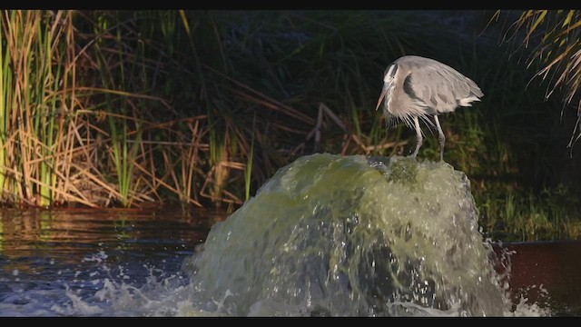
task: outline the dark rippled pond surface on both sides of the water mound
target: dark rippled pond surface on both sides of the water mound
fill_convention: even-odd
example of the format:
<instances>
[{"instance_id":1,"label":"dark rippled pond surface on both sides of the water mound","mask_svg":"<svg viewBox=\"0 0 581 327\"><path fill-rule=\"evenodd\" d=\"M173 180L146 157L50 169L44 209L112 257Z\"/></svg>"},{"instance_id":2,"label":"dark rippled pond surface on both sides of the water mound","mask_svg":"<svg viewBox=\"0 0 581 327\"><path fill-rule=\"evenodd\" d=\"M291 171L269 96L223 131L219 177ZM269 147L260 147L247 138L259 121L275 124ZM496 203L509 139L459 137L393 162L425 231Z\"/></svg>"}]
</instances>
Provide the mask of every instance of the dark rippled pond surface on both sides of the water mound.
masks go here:
<instances>
[{"instance_id":1,"label":"dark rippled pond surface on both sides of the water mound","mask_svg":"<svg viewBox=\"0 0 581 327\"><path fill-rule=\"evenodd\" d=\"M182 262L225 214L0 211L0 316L213 315ZM581 315L581 244L512 243L514 315ZM228 312L219 312L228 315Z\"/></svg>"}]
</instances>

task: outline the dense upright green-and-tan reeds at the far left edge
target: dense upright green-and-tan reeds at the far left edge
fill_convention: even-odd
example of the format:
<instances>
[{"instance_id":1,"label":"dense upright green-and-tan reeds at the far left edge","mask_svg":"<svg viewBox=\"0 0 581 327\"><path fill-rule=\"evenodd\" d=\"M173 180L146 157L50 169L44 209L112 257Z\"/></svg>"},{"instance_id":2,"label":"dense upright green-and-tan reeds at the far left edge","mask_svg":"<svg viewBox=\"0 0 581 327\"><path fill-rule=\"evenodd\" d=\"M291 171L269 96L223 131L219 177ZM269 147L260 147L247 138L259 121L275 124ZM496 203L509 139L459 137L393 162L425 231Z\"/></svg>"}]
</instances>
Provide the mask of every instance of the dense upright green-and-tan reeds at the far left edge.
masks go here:
<instances>
[{"instance_id":1,"label":"dense upright green-and-tan reeds at the far left edge","mask_svg":"<svg viewBox=\"0 0 581 327\"><path fill-rule=\"evenodd\" d=\"M63 179L73 123L67 114L76 105L72 30L70 12L2 13L0 183L11 201L48 206L71 199Z\"/></svg>"}]
</instances>

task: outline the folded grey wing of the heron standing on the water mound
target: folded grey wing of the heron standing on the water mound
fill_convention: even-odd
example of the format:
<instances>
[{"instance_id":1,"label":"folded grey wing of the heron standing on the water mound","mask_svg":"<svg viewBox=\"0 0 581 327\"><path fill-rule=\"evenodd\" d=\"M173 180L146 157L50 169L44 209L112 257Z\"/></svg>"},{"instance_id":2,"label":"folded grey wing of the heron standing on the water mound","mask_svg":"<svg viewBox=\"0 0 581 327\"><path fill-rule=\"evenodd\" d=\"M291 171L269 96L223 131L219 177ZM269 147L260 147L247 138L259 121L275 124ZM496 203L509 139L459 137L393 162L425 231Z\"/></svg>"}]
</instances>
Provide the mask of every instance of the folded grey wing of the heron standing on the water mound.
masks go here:
<instances>
[{"instance_id":1,"label":"folded grey wing of the heron standing on the water mound","mask_svg":"<svg viewBox=\"0 0 581 327\"><path fill-rule=\"evenodd\" d=\"M409 74L408 87L420 100L440 113L451 112L462 100L484 95L474 81L446 64L424 64ZM468 101L469 103L469 101Z\"/></svg>"}]
</instances>

